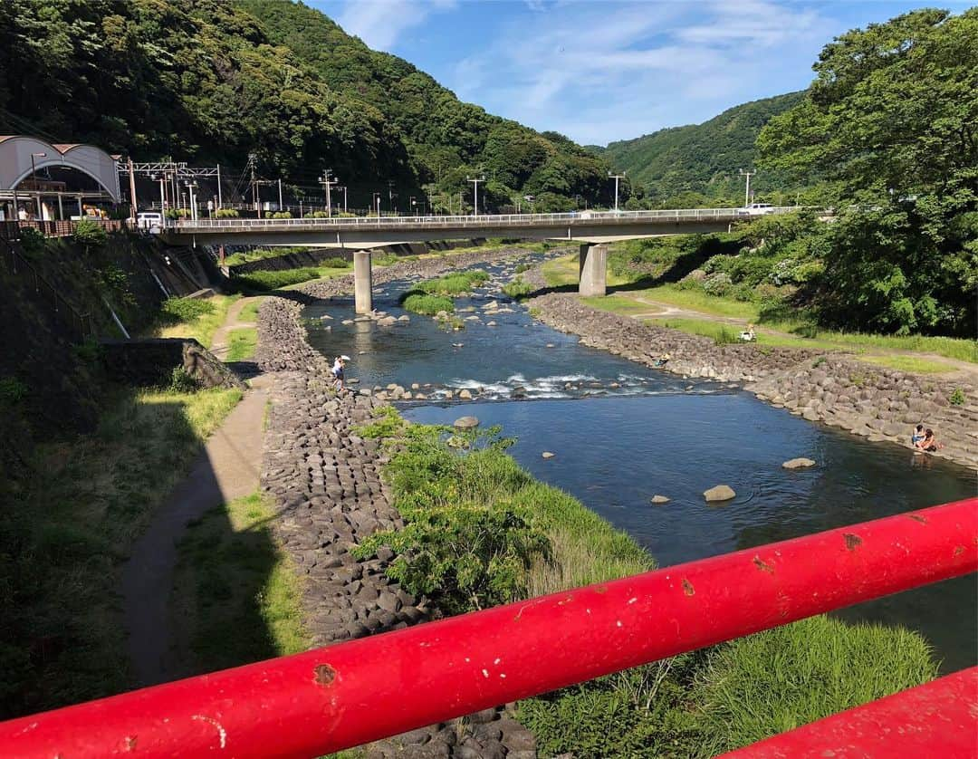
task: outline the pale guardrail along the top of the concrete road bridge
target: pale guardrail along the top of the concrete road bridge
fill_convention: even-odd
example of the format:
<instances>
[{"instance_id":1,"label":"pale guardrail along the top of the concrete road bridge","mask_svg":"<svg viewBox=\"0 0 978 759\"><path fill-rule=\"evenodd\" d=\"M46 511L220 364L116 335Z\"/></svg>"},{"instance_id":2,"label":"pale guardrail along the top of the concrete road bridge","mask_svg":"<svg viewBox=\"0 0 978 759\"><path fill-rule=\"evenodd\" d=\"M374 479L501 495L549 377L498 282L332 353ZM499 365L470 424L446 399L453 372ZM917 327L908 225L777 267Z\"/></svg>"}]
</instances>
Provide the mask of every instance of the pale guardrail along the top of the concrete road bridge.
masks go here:
<instances>
[{"instance_id":1,"label":"pale guardrail along the top of the concrete road bridge","mask_svg":"<svg viewBox=\"0 0 978 759\"><path fill-rule=\"evenodd\" d=\"M771 213L788 213L802 208L797 205L777 206ZM166 228L176 232L228 229L364 229L398 227L513 227L534 225L564 225L579 223L615 223L629 221L736 221L756 218L743 208L679 208L646 211L578 211L570 213L511 213L478 216L356 216L306 219L187 219L168 220Z\"/></svg>"}]
</instances>

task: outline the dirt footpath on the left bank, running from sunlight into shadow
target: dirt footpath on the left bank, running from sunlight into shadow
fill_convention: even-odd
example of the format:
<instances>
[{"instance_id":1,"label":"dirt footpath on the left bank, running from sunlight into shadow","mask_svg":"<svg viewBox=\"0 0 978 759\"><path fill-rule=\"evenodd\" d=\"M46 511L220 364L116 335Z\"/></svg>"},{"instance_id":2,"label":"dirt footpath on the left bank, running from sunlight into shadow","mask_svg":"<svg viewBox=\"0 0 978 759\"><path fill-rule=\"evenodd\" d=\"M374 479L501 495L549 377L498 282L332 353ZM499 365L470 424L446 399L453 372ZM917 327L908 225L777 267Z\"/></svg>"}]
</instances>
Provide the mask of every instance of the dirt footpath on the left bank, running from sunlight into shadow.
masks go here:
<instances>
[{"instance_id":1,"label":"dirt footpath on the left bank, running from sunlight into shadow","mask_svg":"<svg viewBox=\"0 0 978 759\"><path fill-rule=\"evenodd\" d=\"M218 335L235 327L244 301L228 313ZM225 337L226 340L226 337ZM223 343L226 348L226 342ZM271 375L251 380L238 407L210 436L187 478L169 495L146 532L136 541L122 568L122 603L126 647L135 685L149 686L173 676L169 599L177 563L177 546L187 523L221 504L253 493L261 470L262 428Z\"/></svg>"}]
</instances>

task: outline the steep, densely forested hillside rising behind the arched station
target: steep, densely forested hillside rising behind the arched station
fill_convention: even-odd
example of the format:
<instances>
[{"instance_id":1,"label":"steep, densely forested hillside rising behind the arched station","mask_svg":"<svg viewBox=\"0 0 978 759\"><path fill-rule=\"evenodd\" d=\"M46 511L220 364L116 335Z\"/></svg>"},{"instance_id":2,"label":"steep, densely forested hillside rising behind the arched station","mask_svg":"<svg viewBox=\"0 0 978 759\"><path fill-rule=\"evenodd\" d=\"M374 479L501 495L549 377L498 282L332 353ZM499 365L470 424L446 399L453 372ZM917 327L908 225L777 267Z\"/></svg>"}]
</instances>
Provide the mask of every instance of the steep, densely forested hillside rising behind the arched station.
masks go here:
<instances>
[{"instance_id":1,"label":"steep, densely forested hillside rising behind the arched station","mask_svg":"<svg viewBox=\"0 0 978 759\"><path fill-rule=\"evenodd\" d=\"M366 206L388 180L432 202L485 173L490 206L607 195L600 158L461 103L318 11L242 0L24 0L0 14L0 133L91 142L306 185L330 167ZM481 190L481 188L480 188ZM482 193L480 192L480 196Z\"/></svg>"}]
</instances>

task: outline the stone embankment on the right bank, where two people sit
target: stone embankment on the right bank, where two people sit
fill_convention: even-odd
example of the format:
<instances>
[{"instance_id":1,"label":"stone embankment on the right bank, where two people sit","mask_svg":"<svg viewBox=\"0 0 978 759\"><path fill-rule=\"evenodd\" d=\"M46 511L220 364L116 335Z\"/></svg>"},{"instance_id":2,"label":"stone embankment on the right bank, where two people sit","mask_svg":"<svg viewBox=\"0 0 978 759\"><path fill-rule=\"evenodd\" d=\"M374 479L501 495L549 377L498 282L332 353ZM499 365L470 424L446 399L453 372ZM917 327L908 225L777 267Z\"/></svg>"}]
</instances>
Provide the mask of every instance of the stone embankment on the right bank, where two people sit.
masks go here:
<instances>
[{"instance_id":1,"label":"stone embankment on the right bank, where two people sit","mask_svg":"<svg viewBox=\"0 0 978 759\"><path fill-rule=\"evenodd\" d=\"M569 293L540 295L529 305L545 324L580 335L585 345L649 367L667 353L666 371L737 382L778 408L870 440L906 447L911 425L924 424L944 444L933 455L978 466L978 394L970 381L912 375L834 352L718 345L709 337L599 311ZM963 401L957 405L951 403L956 390Z\"/></svg>"}]
</instances>

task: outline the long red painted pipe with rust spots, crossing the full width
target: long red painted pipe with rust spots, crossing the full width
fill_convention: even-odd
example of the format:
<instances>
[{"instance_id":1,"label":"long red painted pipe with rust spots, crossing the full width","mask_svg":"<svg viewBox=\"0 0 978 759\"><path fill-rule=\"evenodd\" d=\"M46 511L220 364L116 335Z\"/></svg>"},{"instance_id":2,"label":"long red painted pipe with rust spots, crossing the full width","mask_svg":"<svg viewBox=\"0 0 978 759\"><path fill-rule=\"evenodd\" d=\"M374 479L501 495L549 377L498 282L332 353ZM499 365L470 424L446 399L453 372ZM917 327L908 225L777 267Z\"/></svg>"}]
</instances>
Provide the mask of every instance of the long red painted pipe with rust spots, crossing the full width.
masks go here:
<instances>
[{"instance_id":1,"label":"long red painted pipe with rust spots, crossing the full width","mask_svg":"<svg viewBox=\"0 0 978 759\"><path fill-rule=\"evenodd\" d=\"M12 720L0 756L316 756L976 568L969 499Z\"/></svg>"}]
</instances>

